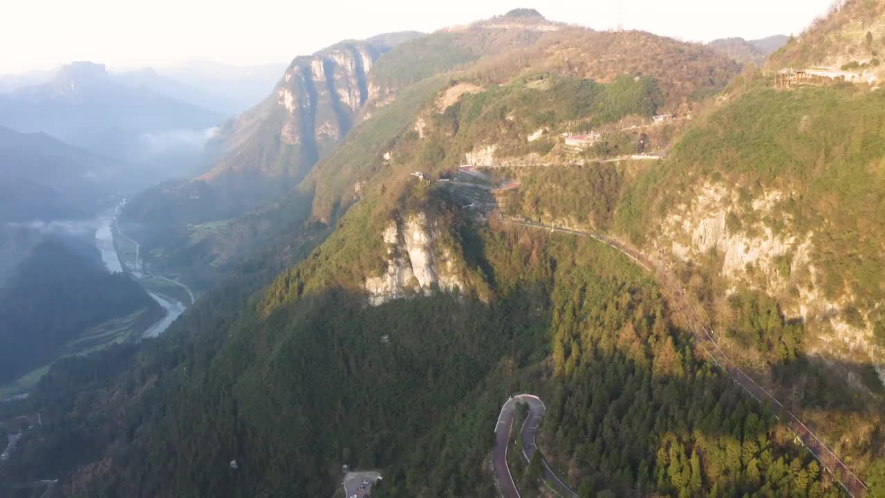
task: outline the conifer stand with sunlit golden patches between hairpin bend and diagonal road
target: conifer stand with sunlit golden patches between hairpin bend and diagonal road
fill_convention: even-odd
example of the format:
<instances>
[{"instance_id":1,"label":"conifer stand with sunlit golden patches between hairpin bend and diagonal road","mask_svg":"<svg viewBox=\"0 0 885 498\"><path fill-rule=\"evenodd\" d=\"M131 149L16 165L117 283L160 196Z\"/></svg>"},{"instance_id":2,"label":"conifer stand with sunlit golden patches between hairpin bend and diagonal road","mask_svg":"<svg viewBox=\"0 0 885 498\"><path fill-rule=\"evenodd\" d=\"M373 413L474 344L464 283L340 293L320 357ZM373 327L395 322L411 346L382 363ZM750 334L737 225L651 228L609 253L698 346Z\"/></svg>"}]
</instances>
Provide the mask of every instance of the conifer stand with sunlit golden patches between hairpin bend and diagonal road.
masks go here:
<instances>
[{"instance_id":1,"label":"conifer stand with sunlit golden patches between hairpin bend and diagonal road","mask_svg":"<svg viewBox=\"0 0 885 498\"><path fill-rule=\"evenodd\" d=\"M773 415L672 328L659 296L593 287L576 285L552 323L563 382L544 434L592 470L582 496L839 495Z\"/></svg>"}]
</instances>

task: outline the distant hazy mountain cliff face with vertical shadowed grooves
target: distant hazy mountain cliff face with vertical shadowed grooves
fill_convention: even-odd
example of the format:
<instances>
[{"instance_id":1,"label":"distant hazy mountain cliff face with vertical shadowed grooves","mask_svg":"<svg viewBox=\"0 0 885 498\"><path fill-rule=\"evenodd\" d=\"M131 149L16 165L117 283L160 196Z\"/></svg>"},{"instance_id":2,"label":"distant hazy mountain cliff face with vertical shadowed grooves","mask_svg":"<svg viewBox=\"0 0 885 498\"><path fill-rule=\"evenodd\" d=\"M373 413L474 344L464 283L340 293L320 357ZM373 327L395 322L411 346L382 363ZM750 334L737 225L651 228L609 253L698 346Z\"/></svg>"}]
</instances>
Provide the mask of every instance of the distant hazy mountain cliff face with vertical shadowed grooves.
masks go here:
<instances>
[{"instance_id":1,"label":"distant hazy mountain cliff face with vertical shadowed grooves","mask_svg":"<svg viewBox=\"0 0 885 498\"><path fill-rule=\"evenodd\" d=\"M236 197L261 200L301 181L350 131L370 97L367 74L387 50L345 42L293 59L270 96L225 124L219 160L197 180L224 179Z\"/></svg>"}]
</instances>

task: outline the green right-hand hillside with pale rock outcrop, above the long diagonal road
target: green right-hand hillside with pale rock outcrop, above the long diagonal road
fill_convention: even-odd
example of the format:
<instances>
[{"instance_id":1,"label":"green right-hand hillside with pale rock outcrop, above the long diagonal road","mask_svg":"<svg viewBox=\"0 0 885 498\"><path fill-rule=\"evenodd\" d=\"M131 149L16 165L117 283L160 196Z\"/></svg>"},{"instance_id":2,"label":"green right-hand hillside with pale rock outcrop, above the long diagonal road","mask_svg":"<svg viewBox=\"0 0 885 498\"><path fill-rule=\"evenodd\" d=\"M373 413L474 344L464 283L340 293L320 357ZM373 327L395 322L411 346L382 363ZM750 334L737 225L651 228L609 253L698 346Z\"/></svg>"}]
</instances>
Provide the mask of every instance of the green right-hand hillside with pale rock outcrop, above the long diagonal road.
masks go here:
<instances>
[{"instance_id":1,"label":"green right-hand hillside with pale rock outcrop, above the long diagonal road","mask_svg":"<svg viewBox=\"0 0 885 498\"><path fill-rule=\"evenodd\" d=\"M638 176L616 226L672 265L745 366L784 395L814 379L792 395L797 410L823 409L806 416L863 459L881 445L870 429L881 416L885 351L875 304L885 94L750 86ZM766 318L781 315L799 330ZM827 370L841 380L821 382ZM865 400L857 415L841 413L848 399L834 393L845 385L852 404Z\"/></svg>"}]
</instances>

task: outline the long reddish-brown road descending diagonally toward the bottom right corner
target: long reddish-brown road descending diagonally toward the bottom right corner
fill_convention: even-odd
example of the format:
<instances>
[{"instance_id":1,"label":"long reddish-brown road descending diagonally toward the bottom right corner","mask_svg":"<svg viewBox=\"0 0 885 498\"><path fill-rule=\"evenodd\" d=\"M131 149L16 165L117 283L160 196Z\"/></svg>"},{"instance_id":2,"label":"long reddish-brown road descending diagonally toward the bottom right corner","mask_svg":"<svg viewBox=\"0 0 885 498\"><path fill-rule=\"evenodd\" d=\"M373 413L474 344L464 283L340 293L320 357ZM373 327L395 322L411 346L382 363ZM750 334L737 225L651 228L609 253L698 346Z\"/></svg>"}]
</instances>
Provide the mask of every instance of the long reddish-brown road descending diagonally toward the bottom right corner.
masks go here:
<instances>
[{"instance_id":1,"label":"long reddish-brown road descending diagonally toward the bottom right corner","mask_svg":"<svg viewBox=\"0 0 885 498\"><path fill-rule=\"evenodd\" d=\"M614 249L625 254L628 258L635 261L639 266L657 277L658 283L662 287L669 289L673 296L678 298L673 300L673 307L679 309L686 316L689 322L689 328L695 335L696 343L701 346L707 357L715 364L719 365L723 370L731 376L735 383L741 385L747 393L757 401L766 401L770 403L774 409L774 415L777 416L792 431L798 440L802 441L804 447L814 455L815 458L834 476L841 474L840 484L845 491L854 498L864 498L868 491L866 485L860 480L854 472L852 472L838 456L835 455L814 433L798 419L789 409L785 408L781 401L778 401L771 393L768 393L764 387L758 385L750 376L743 372L732 362L727 354L722 351L719 343L712 337L712 332L698 318L698 315L689 303L688 298L683 291L681 285L676 284L673 279L663 270L658 268L648 258L626 245L621 244L611 237L602 234L585 232L581 230L569 230L557 227L550 227L541 223L525 222L513 219L502 218L501 222L517 224L527 228L535 228L542 230L550 230L554 232L567 233L579 237L590 237L594 240L609 245ZM500 422L499 422L500 424ZM500 482L500 481L499 481Z\"/></svg>"}]
</instances>

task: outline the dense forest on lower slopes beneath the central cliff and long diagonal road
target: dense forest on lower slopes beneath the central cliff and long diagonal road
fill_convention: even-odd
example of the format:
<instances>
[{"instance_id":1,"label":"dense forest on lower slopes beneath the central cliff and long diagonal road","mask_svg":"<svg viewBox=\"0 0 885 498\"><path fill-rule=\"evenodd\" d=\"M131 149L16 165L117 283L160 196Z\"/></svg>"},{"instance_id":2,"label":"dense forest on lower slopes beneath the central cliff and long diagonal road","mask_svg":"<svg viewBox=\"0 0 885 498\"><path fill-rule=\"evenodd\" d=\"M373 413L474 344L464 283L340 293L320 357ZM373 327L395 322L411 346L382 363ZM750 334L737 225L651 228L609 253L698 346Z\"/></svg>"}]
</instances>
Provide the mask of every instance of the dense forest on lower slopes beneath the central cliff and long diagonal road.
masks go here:
<instances>
[{"instance_id":1,"label":"dense forest on lower slopes beneath the central cliff and long diagonal road","mask_svg":"<svg viewBox=\"0 0 885 498\"><path fill-rule=\"evenodd\" d=\"M381 468L378 496L493 496L482 463L497 410L530 390L550 401L542 444L582 495L838 494L696 357L622 255L459 226L488 304L437 293L364 307L333 286L268 313L260 293L222 287L146 347L60 362L27 401L48 421L42 444L4 471L37 479L44 452L76 442L53 471L82 455L107 464L75 471L73 496L316 496L343 463ZM83 418L84 397L119 409Z\"/></svg>"}]
</instances>

